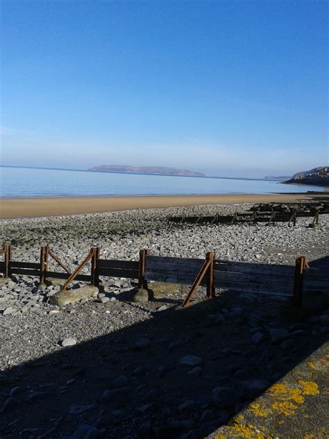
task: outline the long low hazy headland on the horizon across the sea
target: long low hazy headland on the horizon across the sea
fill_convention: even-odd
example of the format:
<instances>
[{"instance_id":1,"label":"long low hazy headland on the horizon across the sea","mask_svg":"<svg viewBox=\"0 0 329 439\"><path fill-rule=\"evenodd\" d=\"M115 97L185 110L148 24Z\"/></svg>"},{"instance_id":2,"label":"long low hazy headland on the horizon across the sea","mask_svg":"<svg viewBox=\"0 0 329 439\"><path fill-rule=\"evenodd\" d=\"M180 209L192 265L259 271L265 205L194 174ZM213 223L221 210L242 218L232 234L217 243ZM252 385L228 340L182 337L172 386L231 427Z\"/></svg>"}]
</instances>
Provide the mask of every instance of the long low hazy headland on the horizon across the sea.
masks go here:
<instances>
[{"instance_id":1,"label":"long low hazy headland on the horizon across the sea","mask_svg":"<svg viewBox=\"0 0 329 439\"><path fill-rule=\"evenodd\" d=\"M162 166L126 166L126 165L99 165L88 169L92 172L124 172L126 174L155 174L204 177L201 172Z\"/></svg>"}]
</instances>

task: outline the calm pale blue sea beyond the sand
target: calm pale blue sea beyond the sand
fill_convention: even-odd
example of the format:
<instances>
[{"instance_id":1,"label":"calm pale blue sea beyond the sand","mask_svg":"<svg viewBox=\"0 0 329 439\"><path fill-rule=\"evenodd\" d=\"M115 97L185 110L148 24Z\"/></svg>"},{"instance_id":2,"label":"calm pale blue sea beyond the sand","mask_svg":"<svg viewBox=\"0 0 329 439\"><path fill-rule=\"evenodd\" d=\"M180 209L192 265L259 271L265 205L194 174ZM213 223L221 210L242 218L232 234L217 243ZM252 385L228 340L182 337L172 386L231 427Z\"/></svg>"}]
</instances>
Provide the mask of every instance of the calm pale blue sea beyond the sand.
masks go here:
<instances>
[{"instance_id":1,"label":"calm pale blue sea beyond the sand","mask_svg":"<svg viewBox=\"0 0 329 439\"><path fill-rule=\"evenodd\" d=\"M0 197L79 197L83 195L269 194L323 190L276 181L0 167Z\"/></svg>"}]
</instances>

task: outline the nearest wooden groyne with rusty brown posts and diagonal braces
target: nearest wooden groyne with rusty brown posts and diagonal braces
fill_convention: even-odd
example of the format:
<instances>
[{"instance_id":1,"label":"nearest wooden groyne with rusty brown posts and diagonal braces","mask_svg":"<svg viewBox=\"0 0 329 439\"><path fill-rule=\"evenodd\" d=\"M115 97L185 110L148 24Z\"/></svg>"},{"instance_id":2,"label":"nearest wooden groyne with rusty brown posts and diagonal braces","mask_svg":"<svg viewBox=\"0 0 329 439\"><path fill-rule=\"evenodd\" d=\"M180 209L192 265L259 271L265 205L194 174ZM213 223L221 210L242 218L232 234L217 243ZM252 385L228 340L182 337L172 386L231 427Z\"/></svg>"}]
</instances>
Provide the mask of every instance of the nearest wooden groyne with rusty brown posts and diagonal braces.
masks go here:
<instances>
[{"instance_id":1,"label":"nearest wooden groyne with rusty brown posts and diagonal braces","mask_svg":"<svg viewBox=\"0 0 329 439\"><path fill-rule=\"evenodd\" d=\"M212 251L205 255L205 259L199 259L152 256L148 249L142 249L139 260L112 260L102 259L99 247L92 247L76 270L71 272L49 245L41 247L39 263L15 260L12 254L12 246L3 245L0 256L4 260L0 262L0 270L5 278L13 274L36 276L40 283L47 279L63 279L63 291L73 281L98 286L101 276L137 279L139 288L147 288L149 281L192 285L183 306L189 304L199 285L206 287L208 299L215 297L216 288L223 288L285 296L297 305L301 305L305 294L329 290L329 273L310 267L305 256L296 258L295 266L292 266L221 260ZM50 259L60 267L60 271L49 270ZM90 274L82 274L85 267Z\"/></svg>"}]
</instances>

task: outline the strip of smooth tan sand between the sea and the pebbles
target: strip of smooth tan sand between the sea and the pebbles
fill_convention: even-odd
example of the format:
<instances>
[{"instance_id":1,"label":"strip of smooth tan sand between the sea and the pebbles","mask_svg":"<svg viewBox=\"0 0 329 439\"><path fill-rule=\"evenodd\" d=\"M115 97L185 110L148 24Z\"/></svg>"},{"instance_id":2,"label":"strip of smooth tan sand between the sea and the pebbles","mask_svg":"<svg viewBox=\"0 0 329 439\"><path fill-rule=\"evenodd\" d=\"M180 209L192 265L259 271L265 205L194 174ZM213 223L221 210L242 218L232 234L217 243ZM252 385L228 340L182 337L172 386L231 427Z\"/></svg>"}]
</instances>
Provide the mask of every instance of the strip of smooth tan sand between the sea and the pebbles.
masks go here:
<instances>
[{"instance_id":1,"label":"strip of smooth tan sand between the sea and the pebbles","mask_svg":"<svg viewBox=\"0 0 329 439\"><path fill-rule=\"evenodd\" d=\"M285 202L305 194L154 195L141 197L2 198L0 219L101 213L115 210Z\"/></svg>"}]
</instances>

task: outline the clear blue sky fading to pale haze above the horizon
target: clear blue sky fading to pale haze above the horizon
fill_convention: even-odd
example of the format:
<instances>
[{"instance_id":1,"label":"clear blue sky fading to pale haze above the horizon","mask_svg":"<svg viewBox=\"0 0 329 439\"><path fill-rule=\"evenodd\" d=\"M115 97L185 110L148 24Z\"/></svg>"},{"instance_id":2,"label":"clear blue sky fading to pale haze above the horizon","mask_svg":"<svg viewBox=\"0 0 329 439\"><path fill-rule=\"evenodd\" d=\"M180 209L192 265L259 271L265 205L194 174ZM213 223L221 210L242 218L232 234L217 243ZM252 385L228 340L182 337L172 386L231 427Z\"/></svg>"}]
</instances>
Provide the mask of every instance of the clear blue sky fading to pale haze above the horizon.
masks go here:
<instances>
[{"instance_id":1,"label":"clear blue sky fading to pale haze above the horizon","mask_svg":"<svg viewBox=\"0 0 329 439\"><path fill-rule=\"evenodd\" d=\"M1 163L329 165L327 1L1 1Z\"/></svg>"}]
</instances>

